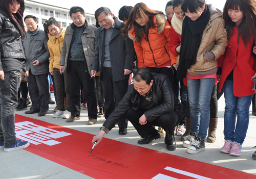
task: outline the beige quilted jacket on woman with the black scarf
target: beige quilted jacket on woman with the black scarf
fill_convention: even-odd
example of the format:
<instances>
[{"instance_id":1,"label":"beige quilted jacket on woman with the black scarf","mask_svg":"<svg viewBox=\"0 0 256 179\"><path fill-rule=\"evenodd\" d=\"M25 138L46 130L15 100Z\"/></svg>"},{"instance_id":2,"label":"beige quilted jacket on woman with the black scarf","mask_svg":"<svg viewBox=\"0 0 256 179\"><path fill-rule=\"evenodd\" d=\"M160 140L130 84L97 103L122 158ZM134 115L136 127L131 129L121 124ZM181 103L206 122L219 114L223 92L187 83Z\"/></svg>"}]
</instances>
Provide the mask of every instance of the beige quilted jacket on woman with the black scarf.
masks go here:
<instances>
[{"instance_id":1,"label":"beige quilted jacket on woman with the black scarf","mask_svg":"<svg viewBox=\"0 0 256 179\"><path fill-rule=\"evenodd\" d=\"M228 40L225 29L225 22L222 18L222 12L216 10L211 5L210 19L203 31L201 44L198 48L197 61L195 65L191 65L187 72L190 75L196 75L195 71L208 71L218 67L218 58L224 54ZM212 52L215 59L210 62L204 60L204 54Z\"/></svg>"}]
</instances>

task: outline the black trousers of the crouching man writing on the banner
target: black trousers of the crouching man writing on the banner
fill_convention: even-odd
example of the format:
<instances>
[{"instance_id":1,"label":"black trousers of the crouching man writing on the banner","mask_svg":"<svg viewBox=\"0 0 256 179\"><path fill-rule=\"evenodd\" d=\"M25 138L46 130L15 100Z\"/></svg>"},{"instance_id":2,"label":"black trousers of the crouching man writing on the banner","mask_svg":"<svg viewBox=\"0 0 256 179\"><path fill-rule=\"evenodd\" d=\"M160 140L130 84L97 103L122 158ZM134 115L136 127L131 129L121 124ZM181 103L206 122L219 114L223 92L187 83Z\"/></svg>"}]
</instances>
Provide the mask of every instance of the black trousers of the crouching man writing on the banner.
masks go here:
<instances>
[{"instance_id":1,"label":"black trousers of the crouching man writing on the banner","mask_svg":"<svg viewBox=\"0 0 256 179\"><path fill-rule=\"evenodd\" d=\"M157 130L153 127L160 126L166 132L164 143L166 145L173 144L173 136L176 123L178 122L178 114L176 111L171 111L166 114L162 114L161 116L157 117L153 122L148 122L145 125L141 125L139 123L139 118L144 114L146 110L138 109L134 110L131 108L126 113L126 118L133 124L137 132L142 138L147 137L148 135L152 135L157 132Z\"/></svg>"}]
</instances>

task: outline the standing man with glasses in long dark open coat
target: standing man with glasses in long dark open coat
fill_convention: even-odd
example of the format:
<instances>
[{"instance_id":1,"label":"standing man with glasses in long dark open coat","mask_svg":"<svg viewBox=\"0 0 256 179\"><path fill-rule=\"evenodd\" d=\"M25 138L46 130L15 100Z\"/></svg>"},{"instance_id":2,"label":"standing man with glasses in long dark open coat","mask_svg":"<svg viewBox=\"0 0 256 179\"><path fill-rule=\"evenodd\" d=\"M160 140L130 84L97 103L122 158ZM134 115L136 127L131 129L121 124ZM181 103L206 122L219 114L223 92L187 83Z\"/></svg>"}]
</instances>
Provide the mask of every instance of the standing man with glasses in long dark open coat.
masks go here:
<instances>
[{"instance_id":1,"label":"standing man with glasses in long dark open coat","mask_svg":"<svg viewBox=\"0 0 256 179\"><path fill-rule=\"evenodd\" d=\"M100 28L97 29L96 48L92 75L100 72L100 81L105 98L105 118L117 107L127 91L128 80L135 61L133 42L122 37L124 23L118 20L109 8L95 11ZM118 121L119 135L127 134L127 120Z\"/></svg>"}]
</instances>

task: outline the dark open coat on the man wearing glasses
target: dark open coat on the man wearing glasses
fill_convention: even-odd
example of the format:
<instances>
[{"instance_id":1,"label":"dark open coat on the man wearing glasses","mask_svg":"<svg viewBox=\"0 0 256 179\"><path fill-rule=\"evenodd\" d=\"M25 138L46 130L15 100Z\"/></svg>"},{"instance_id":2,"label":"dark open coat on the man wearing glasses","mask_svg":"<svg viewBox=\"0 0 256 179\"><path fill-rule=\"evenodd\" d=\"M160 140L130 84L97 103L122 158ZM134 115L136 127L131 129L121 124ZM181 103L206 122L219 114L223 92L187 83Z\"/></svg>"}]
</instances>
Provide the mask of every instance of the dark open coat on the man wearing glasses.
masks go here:
<instances>
[{"instance_id":1,"label":"dark open coat on the man wearing glasses","mask_svg":"<svg viewBox=\"0 0 256 179\"><path fill-rule=\"evenodd\" d=\"M113 80L117 82L129 78L129 75L124 75L123 70L129 69L132 71L133 62L135 61L135 50L133 41L130 38L124 40L122 37L121 29L124 28L124 23L115 17L114 19L116 23L109 46ZM102 44L103 38L104 29L100 27L97 29L96 48L92 66L92 70L100 71L100 75L102 74L104 62L104 52L102 52L104 49L104 44Z\"/></svg>"}]
</instances>

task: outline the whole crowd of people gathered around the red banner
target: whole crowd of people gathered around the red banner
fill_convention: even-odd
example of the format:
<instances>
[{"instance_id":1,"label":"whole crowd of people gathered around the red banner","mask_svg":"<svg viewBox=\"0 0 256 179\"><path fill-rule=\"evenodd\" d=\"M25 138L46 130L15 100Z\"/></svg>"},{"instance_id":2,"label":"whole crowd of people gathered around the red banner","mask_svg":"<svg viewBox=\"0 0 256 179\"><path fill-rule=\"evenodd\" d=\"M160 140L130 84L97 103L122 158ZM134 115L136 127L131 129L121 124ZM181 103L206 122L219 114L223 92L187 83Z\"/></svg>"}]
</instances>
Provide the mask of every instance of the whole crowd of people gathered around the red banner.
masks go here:
<instances>
[{"instance_id":1,"label":"whole crowd of people gathered around the red banner","mask_svg":"<svg viewBox=\"0 0 256 179\"><path fill-rule=\"evenodd\" d=\"M96 24L75 6L67 29L51 17L44 31L35 16L23 17L24 0L0 5L0 148L29 146L15 137L15 110L27 109L29 93L25 113L45 116L55 104L52 83L53 118L79 120L81 108L88 109L88 125L105 117L96 145L116 124L126 135L130 121L142 137L138 144L165 137L173 151L178 135L189 154L205 150L206 136L216 141L224 92L220 151L241 155L252 100L255 108L254 0L227 0L223 12L204 0L173 0L166 16L144 3L123 6L118 17L100 7Z\"/></svg>"}]
</instances>

